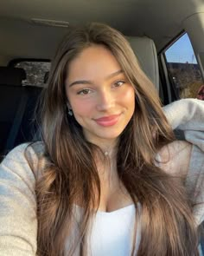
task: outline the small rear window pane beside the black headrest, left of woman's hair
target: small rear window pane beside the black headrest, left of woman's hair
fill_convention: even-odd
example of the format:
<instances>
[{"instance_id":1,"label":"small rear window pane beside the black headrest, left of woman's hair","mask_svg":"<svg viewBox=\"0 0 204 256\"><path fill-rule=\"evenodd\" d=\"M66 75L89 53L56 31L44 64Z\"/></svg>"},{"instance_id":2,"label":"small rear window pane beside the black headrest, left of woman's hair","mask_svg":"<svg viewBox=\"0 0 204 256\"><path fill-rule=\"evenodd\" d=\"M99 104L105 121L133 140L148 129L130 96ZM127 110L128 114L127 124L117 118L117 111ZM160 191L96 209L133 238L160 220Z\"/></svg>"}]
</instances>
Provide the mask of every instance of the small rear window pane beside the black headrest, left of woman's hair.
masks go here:
<instances>
[{"instance_id":1,"label":"small rear window pane beside the black headrest, left of woman's hair","mask_svg":"<svg viewBox=\"0 0 204 256\"><path fill-rule=\"evenodd\" d=\"M16 62L16 68L22 68L26 71L26 80L22 85L43 86L45 76L50 69L50 62Z\"/></svg>"}]
</instances>

